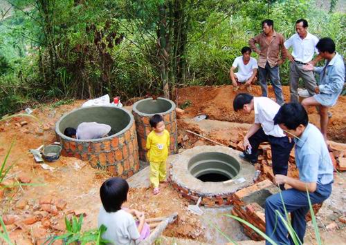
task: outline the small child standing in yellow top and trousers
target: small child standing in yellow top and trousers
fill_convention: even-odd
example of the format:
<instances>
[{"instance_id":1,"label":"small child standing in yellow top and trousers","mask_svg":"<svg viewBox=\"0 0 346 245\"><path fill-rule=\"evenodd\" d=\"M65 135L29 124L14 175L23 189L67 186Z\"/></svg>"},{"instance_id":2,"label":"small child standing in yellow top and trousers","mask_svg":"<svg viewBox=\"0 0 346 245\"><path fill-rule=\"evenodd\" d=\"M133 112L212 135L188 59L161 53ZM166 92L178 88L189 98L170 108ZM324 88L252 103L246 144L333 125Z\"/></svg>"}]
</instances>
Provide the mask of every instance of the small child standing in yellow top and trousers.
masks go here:
<instances>
[{"instance_id":1,"label":"small child standing in yellow top and trousers","mask_svg":"<svg viewBox=\"0 0 346 245\"><path fill-rule=\"evenodd\" d=\"M166 160L170 147L170 133L165 130L165 122L161 115L154 115L149 120L152 132L147 137L147 159L150 164L150 183L154 187L154 195L160 192L158 185L166 178Z\"/></svg>"}]
</instances>

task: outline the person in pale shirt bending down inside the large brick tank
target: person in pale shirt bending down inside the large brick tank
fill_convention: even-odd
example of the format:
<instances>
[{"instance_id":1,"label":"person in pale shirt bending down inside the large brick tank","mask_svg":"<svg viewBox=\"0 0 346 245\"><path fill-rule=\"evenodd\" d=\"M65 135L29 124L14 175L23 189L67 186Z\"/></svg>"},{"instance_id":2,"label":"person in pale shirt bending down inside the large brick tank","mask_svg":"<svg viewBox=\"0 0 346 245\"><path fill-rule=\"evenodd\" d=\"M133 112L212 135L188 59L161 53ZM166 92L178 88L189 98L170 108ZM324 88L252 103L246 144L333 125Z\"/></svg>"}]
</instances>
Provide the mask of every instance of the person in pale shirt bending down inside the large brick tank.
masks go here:
<instances>
[{"instance_id":1,"label":"person in pale shirt bending down inside the large brick tank","mask_svg":"<svg viewBox=\"0 0 346 245\"><path fill-rule=\"evenodd\" d=\"M98 124L96 122L83 122L75 128L66 128L64 135L76 139L100 139L107 137L111 131L111 126L107 124Z\"/></svg>"}]
</instances>

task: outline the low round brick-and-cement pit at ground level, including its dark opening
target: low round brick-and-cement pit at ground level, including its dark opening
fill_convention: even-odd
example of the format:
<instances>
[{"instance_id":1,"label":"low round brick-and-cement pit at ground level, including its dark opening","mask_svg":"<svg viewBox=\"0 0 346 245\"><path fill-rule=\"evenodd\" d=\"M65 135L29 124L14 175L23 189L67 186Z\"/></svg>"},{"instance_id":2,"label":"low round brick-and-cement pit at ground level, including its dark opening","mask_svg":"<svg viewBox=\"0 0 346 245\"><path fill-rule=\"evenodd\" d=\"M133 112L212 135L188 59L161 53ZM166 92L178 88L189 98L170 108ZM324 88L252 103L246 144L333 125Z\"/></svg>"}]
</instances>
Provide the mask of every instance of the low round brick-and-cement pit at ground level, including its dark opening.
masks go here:
<instances>
[{"instance_id":1,"label":"low round brick-and-cement pit at ground level, including its dark opening","mask_svg":"<svg viewBox=\"0 0 346 245\"><path fill-rule=\"evenodd\" d=\"M171 162L172 186L194 202L202 197L201 205L204 206L230 205L233 194L251 186L255 176L255 167L238 155L239 151L224 146L196 146L185 150ZM216 179L210 179L215 175ZM234 181L225 182L228 179ZM238 182L238 179L243 181Z\"/></svg>"}]
</instances>

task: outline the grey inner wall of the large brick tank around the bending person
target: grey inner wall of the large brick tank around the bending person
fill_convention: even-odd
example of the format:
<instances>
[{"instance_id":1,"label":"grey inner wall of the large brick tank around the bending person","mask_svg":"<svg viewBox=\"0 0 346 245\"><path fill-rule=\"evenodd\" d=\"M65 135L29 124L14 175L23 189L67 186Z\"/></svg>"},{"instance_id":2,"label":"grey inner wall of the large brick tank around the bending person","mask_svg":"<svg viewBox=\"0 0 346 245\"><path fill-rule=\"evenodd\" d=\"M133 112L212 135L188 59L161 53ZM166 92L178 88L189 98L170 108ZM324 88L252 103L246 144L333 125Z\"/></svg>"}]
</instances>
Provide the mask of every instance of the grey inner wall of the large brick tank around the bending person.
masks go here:
<instances>
[{"instance_id":1,"label":"grey inner wall of the large brick tank around the bending person","mask_svg":"<svg viewBox=\"0 0 346 245\"><path fill-rule=\"evenodd\" d=\"M131 117L125 110L111 106L91 106L80 108L64 116L59 123L60 133L64 134L65 128L77 128L82 122L95 121L99 124L111 126L109 136L115 135L131 122Z\"/></svg>"}]
</instances>

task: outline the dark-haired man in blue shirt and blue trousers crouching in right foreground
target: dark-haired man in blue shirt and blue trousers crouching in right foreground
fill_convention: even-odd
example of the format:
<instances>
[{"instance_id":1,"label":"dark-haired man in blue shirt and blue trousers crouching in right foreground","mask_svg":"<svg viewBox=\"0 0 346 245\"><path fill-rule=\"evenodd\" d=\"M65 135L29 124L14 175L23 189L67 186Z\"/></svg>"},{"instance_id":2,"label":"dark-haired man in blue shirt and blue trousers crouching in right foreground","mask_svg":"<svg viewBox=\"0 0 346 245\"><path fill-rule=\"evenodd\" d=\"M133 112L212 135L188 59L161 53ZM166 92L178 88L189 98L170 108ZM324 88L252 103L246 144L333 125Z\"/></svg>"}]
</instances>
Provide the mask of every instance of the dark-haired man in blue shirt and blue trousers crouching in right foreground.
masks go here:
<instances>
[{"instance_id":1,"label":"dark-haired man in blue shirt and blue trousers crouching in right foreground","mask_svg":"<svg viewBox=\"0 0 346 245\"><path fill-rule=\"evenodd\" d=\"M284 104L275 115L274 124L278 124L295 141L295 163L299 179L275 175L275 184L289 184L292 188L282 191L282 198L277 193L266 199L266 235L277 244L293 244L284 223L275 213L278 210L282 217L286 217L285 206L286 211L291 213L292 228L303 243L307 226L305 215L309 212L307 190L311 204L325 201L331 194L333 164L322 133L316 126L309 124L307 111L302 105ZM267 241L266 244L270 243Z\"/></svg>"}]
</instances>

